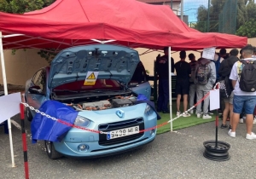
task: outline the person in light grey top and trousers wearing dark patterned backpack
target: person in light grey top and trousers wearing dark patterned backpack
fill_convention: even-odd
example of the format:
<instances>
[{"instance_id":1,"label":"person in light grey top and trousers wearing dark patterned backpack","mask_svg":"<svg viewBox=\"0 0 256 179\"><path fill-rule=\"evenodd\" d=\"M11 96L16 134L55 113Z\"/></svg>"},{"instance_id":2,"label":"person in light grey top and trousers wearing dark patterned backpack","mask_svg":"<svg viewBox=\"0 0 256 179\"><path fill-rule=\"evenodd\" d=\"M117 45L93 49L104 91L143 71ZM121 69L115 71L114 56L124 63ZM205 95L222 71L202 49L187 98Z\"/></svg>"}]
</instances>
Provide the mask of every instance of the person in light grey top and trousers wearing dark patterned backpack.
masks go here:
<instances>
[{"instance_id":1,"label":"person in light grey top and trousers wearing dark patterned backpack","mask_svg":"<svg viewBox=\"0 0 256 179\"><path fill-rule=\"evenodd\" d=\"M216 68L214 62L209 59L201 58L195 66L195 84L196 84L196 100L201 101L203 96L212 90L213 84L216 82ZM196 107L197 118L212 118L208 114L210 96L204 100L203 112L201 112L201 102Z\"/></svg>"}]
</instances>

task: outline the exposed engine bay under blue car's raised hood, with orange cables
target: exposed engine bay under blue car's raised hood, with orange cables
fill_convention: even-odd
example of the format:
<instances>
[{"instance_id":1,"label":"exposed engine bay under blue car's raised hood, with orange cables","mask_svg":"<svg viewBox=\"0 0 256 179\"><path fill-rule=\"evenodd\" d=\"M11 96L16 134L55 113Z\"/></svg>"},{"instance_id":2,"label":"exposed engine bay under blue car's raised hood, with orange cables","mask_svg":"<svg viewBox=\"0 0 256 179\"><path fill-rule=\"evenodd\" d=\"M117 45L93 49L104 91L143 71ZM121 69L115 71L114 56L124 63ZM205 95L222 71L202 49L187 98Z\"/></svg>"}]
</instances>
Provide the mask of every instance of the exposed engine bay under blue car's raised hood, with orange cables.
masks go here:
<instances>
[{"instance_id":1,"label":"exposed engine bay under blue car's raised hood, with orange cables","mask_svg":"<svg viewBox=\"0 0 256 179\"><path fill-rule=\"evenodd\" d=\"M134 105L137 97L134 95L122 96L117 95L110 99L98 101L80 101L79 103L63 103L67 106L73 107L76 111L98 111L106 110L116 107L129 107Z\"/></svg>"}]
</instances>

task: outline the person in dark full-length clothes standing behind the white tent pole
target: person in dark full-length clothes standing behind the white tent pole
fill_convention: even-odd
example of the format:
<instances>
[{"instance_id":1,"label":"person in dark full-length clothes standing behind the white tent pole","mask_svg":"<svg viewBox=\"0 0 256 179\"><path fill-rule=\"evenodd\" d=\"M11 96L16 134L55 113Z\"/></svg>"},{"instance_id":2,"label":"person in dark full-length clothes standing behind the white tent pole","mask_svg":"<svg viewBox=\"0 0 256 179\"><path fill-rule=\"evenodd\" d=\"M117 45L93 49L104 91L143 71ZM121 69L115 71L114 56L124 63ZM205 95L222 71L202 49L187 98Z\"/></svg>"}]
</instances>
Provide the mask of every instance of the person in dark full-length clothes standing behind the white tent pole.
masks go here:
<instances>
[{"instance_id":1,"label":"person in dark full-length clothes standing behind the white tent pole","mask_svg":"<svg viewBox=\"0 0 256 179\"><path fill-rule=\"evenodd\" d=\"M164 48L165 55L157 58L156 72L159 76L159 96L157 101L157 112L170 113L168 109L169 102L169 63L168 63L168 47ZM172 70L174 72L174 60L171 58Z\"/></svg>"}]
</instances>

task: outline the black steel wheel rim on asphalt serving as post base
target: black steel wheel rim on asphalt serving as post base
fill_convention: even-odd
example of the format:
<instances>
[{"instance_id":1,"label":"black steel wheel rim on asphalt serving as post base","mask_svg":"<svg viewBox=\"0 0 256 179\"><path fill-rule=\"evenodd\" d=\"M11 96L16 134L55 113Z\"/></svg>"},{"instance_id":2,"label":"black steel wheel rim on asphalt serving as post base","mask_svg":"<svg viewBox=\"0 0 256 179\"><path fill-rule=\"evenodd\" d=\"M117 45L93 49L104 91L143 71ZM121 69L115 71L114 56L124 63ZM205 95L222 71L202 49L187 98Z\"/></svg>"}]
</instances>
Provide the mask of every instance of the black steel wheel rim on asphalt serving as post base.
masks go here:
<instances>
[{"instance_id":1,"label":"black steel wheel rim on asphalt serving as post base","mask_svg":"<svg viewBox=\"0 0 256 179\"><path fill-rule=\"evenodd\" d=\"M207 159L212 159L214 161L226 161L230 159L228 153L230 149L230 144L224 141L218 141L216 146L216 141L205 141L204 146L206 150L204 152L204 157Z\"/></svg>"}]
</instances>

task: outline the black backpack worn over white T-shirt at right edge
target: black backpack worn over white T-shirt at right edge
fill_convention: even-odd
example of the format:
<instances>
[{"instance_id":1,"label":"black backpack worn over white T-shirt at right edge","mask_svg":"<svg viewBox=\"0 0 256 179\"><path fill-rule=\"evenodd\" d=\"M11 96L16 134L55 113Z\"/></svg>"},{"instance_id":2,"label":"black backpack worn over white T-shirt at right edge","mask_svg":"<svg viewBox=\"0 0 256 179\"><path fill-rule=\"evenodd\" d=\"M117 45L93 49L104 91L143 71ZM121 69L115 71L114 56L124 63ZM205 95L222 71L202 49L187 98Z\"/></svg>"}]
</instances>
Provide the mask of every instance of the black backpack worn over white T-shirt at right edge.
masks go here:
<instances>
[{"instance_id":1,"label":"black backpack worn over white T-shirt at right edge","mask_svg":"<svg viewBox=\"0 0 256 179\"><path fill-rule=\"evenodd\" d=\"M256 91L256 63L255 61L247 62L245 60L240 61L243 66L241 69L239 87L245 92Z\"/></svg>"}]
</instances>

